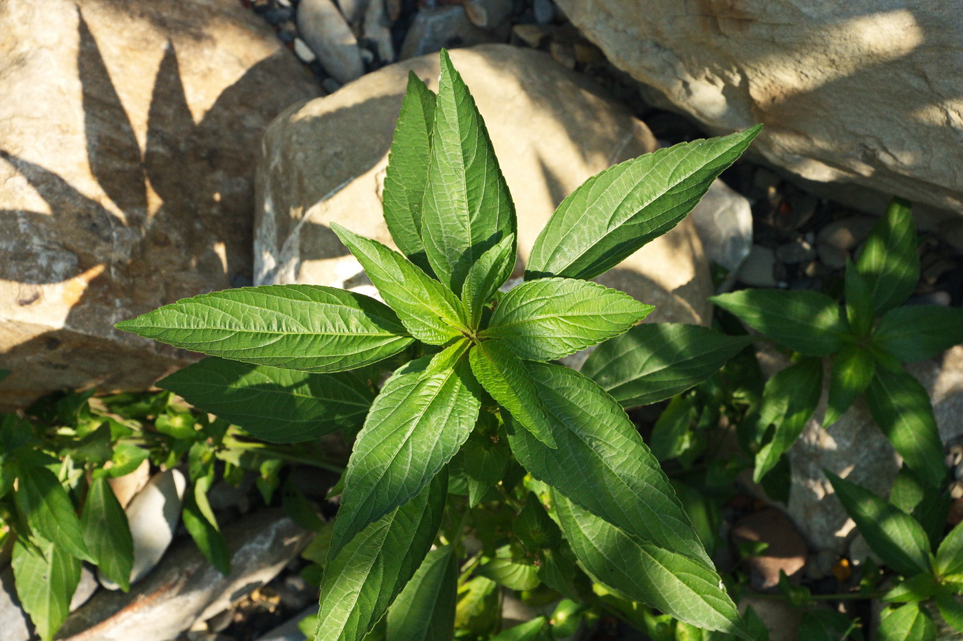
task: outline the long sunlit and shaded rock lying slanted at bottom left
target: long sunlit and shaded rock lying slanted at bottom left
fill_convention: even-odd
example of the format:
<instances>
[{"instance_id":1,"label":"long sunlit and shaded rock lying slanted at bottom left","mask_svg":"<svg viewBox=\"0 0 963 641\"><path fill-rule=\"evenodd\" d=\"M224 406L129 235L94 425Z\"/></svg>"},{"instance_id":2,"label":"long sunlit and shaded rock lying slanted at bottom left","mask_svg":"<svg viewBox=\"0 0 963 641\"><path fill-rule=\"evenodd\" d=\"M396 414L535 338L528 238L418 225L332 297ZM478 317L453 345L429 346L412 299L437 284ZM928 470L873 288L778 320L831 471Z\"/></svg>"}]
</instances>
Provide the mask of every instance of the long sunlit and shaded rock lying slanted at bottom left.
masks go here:
<instances>
[{"instance_id":1,"label":"long sunlit and shaded rock lying slanted at bottom left","mask_svg":"<svg viewBox=\"0 0 963 641\"><path fill-rule=\"evenodd\" d=\"M129 593L96 594L70 615L58 638L168 641L270 581L311 537L280 510L251 514L223 533L232 551L229 577L185 540Z\"/></svg>"}]
</instances>

